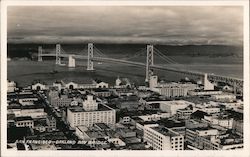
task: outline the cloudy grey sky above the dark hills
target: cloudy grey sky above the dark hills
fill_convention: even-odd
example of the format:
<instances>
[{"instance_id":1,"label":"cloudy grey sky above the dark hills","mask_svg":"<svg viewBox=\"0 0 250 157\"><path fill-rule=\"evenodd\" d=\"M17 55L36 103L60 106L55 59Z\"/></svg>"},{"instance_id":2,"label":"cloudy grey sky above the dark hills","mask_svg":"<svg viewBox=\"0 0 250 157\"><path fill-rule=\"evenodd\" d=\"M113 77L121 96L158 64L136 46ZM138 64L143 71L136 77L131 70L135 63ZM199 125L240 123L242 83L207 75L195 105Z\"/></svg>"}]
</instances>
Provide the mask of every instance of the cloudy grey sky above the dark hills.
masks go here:
<instances>
[{"instance_id":1,"label":"cloudy grey sky above the dark hills","mask_svg":"<svg viewBox=\"0 0 250 157\"><path fill-rule=\"evenodd\" d=\"M234 6L9 6L8 43L241 45Z\"/></svg>"}]
</instances>

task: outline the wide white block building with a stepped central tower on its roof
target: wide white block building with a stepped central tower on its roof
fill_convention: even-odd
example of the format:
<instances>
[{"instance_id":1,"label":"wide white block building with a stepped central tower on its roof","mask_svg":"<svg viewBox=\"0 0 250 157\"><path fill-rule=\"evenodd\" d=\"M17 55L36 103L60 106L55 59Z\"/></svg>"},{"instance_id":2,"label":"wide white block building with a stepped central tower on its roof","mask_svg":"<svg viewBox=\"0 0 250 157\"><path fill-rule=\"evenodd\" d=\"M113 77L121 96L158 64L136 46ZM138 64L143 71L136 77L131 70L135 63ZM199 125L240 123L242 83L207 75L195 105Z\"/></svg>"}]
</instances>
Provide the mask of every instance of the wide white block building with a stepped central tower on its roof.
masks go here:
<instances>
[{"instance_id":1,"label":"wide white block building with a stepped central tower on its roof","mask_svg":"<svg viewBox=\"0 0 250 157\"><path fill-rule=\"evenodd\" d=\"M79 125L92 126L95 123L115 124L115 110L104 104L98 104L93 96L88 95L82 107L67 109L67 121L75 128Z\"/></svg>"}]
</instances>

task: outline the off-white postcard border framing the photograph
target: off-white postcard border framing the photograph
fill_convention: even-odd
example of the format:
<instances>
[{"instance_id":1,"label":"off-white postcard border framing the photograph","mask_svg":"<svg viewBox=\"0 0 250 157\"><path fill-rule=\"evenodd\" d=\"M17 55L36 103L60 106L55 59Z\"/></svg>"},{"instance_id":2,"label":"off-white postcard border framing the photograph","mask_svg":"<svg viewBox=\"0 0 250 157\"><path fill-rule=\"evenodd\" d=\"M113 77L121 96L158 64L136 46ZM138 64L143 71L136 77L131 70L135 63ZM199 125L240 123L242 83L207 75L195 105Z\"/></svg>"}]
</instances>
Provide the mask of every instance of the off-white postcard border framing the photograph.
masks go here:
<instances>
[{"instance_id":1,"label":"off-white postcard border framing the photograph","mask_svg":"<svg viewBox=\"0 0 250 157\"><path fill-rule=\"evenodd\" d=\"M234 151L13 151L7 150L7 7L8 6L243 6L244 149ZM2 1L1 2L1 155L2 156L249 156L249 1Z\"/></svg>"}]
</instances>

